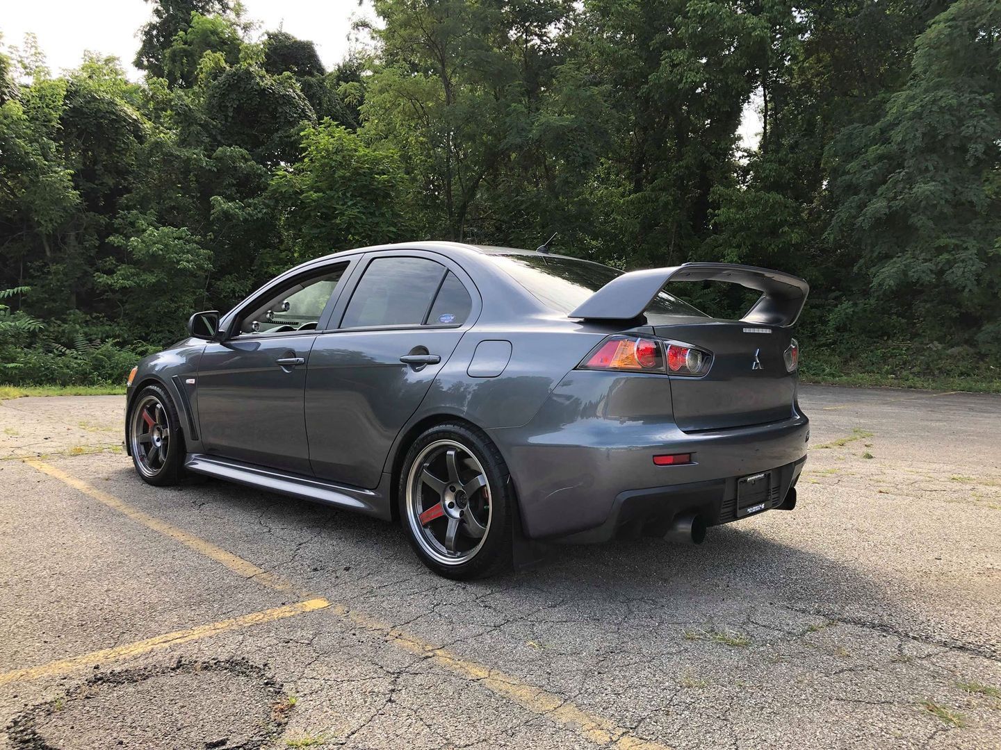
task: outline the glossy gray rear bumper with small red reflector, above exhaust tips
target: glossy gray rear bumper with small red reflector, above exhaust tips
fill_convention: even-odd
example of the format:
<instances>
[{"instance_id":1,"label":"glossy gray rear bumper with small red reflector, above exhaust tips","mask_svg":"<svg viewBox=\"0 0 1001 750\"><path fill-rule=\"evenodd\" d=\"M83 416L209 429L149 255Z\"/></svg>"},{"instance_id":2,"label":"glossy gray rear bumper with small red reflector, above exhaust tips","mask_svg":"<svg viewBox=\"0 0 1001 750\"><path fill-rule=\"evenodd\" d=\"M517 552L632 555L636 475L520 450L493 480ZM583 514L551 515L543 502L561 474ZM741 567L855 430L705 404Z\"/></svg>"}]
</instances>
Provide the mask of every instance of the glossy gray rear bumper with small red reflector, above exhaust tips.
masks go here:
<instances>
[{"instance_id":1,"label":"glossy gray rear bumper with small red reflector, above exhaust tips","mask_svg":"<svg viewBox=\"0 0 1001 750\"><path fill-rule=\"evenodd\" d=\"M654 533L685 511L711 524L734 520L737 480L763 471L777 483L775 507L799 477L810 431L798 410L781 422L699 433L641 420L550 425L537 417L487 432L511 470L526 536L582 542L609 539L637 520ZM653 456L666 453L691 453L693 462L655 465Z\"/></svg>"}]
</instances>

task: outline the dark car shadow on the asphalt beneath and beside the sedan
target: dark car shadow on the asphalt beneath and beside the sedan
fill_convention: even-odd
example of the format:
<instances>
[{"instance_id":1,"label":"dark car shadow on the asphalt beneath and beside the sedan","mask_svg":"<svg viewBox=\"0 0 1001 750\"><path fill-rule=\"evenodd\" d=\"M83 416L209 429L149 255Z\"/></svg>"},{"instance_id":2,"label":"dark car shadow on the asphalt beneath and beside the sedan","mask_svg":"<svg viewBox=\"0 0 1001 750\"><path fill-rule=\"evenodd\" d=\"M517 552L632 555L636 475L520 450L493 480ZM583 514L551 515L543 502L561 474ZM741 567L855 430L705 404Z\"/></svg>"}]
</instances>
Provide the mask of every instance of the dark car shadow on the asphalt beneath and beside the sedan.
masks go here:
<instances>
[{"instance_id":1,"label":"dark car shadow on the asphalt beneath and beside the sedan","mask_svg":"<svg viewBox=\"0 0 1001 750\"><path fill-rule=\"evenodd\" d=\"M109 480L133 489L137 482L130 468L114 472ZM468 598L519 591L518 598L530 606L568 595L582 602L651 600L661 607L715 597L777 604L805 614L839 616L852 611L859 620L894 617L895 603L887 597L885 582L772 538L767 524L713 527L698 546L656 538L545 544L537 559L513 573L450 582L419 563L398 526L379 519L215 480L179 490L148 489L157 498L153 504L143 499L149 497L145 492L133 502L158 515L169 510L174 522L223 547L229 523L233 538L240 539L247 538L248 525L266 528L269 533L254 539L252 547L231 551L265 569L269 559L280 560L282 569L274 572L317 592L333 583L339 587L350 582L352 590L360 590L364 580L373 587L410 581L411 588L430 583L465 591ZM180 497L188 503L178 507ZM187 510L205 505L213 507L208 529ZM291 558L289 547L295 548ZM353 572L345 574L349 570Z\"/></svg>"}]
</instances>

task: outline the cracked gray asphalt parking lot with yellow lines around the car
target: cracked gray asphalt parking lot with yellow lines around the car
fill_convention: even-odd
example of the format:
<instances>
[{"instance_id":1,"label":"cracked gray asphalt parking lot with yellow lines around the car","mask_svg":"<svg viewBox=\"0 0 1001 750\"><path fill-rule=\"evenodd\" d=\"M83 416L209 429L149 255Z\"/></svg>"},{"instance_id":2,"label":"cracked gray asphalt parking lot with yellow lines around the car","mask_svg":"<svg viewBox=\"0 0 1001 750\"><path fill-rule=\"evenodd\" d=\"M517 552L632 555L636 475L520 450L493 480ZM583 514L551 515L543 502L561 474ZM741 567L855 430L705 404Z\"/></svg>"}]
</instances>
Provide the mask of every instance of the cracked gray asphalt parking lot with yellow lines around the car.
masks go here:
<instances>
[{"instance_id":1,"label":"cracked gray asphalt parking lot with yellow lines around the car","mask_svg":"<svg viewBox=\"0 0 1001 750\"><path fill-rule=\"evenodd\" d=\"M798 508L427 572L0 402L0 748L1001 747L1001 396L802 386Z\"/></svg>"}]
</instances>

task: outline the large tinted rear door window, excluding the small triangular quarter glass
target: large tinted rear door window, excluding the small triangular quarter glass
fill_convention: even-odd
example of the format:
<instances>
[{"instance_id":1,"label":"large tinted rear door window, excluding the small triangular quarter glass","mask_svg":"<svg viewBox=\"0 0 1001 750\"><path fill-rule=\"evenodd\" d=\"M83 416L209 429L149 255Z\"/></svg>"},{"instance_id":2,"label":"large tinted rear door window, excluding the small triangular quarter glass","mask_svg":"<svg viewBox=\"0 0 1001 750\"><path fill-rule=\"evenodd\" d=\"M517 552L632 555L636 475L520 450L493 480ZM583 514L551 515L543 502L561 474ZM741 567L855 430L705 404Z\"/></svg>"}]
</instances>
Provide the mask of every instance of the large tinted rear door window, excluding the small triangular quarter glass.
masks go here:
<instances>
[{"instance_id":1,"label":"large tinted rear door window, excluding the small triangular quarter glass","mask_svg":"<svg viewBox=\"0 0 1001 750\"><path fill-rule=\"evenodd\" d=\"M423 258L376 258L351 295L342 328L420 325L444 266Z\"/></svg>"}]
</instances>

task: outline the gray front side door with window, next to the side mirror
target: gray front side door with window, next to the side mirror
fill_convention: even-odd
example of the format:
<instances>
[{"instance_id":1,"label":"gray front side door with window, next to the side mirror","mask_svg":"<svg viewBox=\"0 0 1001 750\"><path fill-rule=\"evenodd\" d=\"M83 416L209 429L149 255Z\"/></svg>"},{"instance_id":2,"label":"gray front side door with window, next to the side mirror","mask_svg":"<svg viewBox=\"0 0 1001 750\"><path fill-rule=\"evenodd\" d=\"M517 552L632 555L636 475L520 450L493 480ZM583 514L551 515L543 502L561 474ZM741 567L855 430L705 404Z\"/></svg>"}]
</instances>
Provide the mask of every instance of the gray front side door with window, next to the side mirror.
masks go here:
<instances>
[{"instance_id":1,"label":"gray front side door with window, next to the side mirror","mask_svg":"<svg viewBox=\"0 0 1001 750\"><path fill-rule=\"evenodd\" d=\"M205 451L311 474L303 392L306 364L346 263L265 288L210 342L198 367Z\"/></svg>"}]
</instances>

